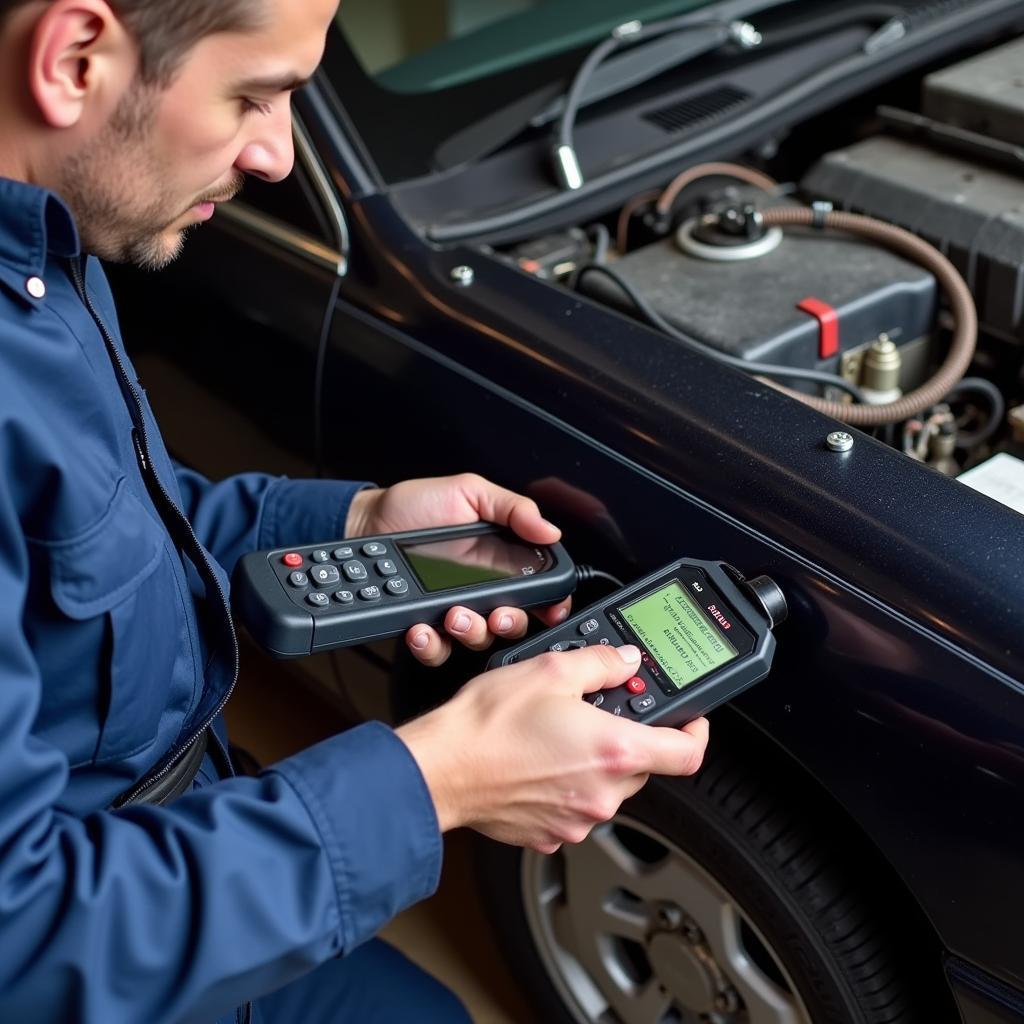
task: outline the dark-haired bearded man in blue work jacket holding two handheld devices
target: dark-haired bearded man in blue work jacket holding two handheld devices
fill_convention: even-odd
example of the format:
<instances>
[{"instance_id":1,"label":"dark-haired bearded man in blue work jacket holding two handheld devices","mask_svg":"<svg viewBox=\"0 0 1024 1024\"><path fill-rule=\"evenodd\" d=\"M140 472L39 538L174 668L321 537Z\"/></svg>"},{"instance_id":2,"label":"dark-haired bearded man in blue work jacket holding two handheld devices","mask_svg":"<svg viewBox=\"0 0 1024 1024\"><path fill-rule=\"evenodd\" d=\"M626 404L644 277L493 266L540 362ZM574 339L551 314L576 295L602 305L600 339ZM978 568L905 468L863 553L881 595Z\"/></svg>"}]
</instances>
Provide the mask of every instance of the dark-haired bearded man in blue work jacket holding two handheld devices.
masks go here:
<instances>
[{"instance_id":1,"label":"dark-haired bearded man in blue work jacket holding two handheld devices","mask_svg":"<svg viewBox=\"0 0 1024 1024\"><path fill-rule=\"evenodd\" d=\"M464 1021L372 938L433 891L441 834L553 852L707 744L581 700L637 667L597 648L231 777L241 554L479 518L558 538L475 476L213 484L160 440L97 257L161 267L245 175L289 173L336 5L0 0L0 1020ZM453 608L407 642L439 665L525 629Z\"/></svg>"}]
</instances>

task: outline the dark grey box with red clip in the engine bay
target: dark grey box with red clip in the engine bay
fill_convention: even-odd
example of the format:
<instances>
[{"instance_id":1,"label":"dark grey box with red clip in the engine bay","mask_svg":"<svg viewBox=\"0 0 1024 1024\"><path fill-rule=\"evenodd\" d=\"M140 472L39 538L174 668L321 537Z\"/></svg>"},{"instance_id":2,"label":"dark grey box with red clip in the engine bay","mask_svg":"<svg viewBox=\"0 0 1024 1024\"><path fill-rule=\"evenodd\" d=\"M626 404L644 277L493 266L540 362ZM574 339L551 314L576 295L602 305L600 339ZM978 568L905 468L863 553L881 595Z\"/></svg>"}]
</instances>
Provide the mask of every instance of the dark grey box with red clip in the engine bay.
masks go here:
<instances>
[{"instance_id":1,"label":"dark grey box with red clip in the engine bay","mask_svg":"<svg viewBox=\"0 0 1024 1024\"><path fill-rule=\"evenodd\" d=\"M688 245L688 227L628 253L612 267L666 321L729 355L855 379L844 365L848 353L863 351L882 335L902 347L933 331L935 279L870 243L787 228L760 255L723 260L713 248ZM603 275L585 275L581 289L636 313ZM910 370L919 376L924 368Z\"/></svg>"}]
</instances>

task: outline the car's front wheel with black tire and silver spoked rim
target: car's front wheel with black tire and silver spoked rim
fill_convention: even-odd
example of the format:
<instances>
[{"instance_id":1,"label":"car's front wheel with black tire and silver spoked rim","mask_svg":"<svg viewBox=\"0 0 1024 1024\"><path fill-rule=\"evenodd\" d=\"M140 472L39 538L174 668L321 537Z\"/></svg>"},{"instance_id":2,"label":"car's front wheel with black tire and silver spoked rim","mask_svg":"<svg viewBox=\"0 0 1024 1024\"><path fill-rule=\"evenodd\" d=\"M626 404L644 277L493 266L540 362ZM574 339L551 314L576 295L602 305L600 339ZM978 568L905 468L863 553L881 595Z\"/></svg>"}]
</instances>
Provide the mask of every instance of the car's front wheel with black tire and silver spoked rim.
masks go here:
<instances>
[{"instance_id":1,"label":"car's front wheel with black tire and silver spoked rim","mask_svg":"<svg viewBox=\"0 0 1024 1024\"><path fill-rule=\"evenodd\" d=\"M717 735L695 778L653 779L552 857L481 844L537 1020L958 1021L937 943L877 854L797 772L730 746L750 750Z\"/></svg>"}]
</instances>

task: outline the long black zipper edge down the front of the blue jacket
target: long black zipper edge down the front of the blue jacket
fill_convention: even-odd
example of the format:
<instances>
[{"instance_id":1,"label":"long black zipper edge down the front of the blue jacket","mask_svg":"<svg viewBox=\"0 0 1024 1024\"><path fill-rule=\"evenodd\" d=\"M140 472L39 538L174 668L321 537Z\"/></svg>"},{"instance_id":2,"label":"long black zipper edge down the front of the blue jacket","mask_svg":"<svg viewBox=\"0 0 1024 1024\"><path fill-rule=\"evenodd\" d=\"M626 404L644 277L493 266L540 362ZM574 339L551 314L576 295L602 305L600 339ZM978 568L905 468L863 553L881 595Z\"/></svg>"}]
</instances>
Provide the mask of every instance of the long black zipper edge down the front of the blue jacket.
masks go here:
<instances>
[{"instance_id":1,"label":"long black zipper edge down the front of the blue jacket","mask_svg":"<svg viewBox=\"0 0 1024 1024\"><path fill-rule=\"evenodd\" d=\"M88 310L89 315L92 317L96 327L99 329L99 333L102 335L103 342L106 345L106 350L111 356L111 361L114 364L115 370L118 373L122 389L127 391L128 395L131 397L129 413L131 414L131 419L134 424L132 441L134 442L135 454L138 458L139 467L142 471L142 478L146 481L148 486L152 486L157 490L161 499L161 504L170 510L171 515L177 522L177 525L184 530L185 536L190 540L191 544L188 545L188 547L194 547L195 552L198 553L202 559L202 568L206 570L208 581L213 583L214 592L216 593L224 611L224 621L227 624L227 634L231 642L231 655L233 659L231 683L223 697L221 697L216 709L207 717L207 719L203 722L203 725L193 732L185 742L171 749L164 761L161 762L161 767L145 775L127 794L118 798L118 805L124 806L135 801L146 790L164 778L174 768L175 763L181 755L184 754L185 751L187 751L199 739L199 737L210 728L217 716L224 710L224 707L230 699L231 694L234 692L234 684L239 678L239 638L234 629L234 623L231 620L231 611L230 605L227 602L227 595L224 593L224 588L221 587L220 581L217 579L217 574L214 572L213 566L210 564L210 559L207 557L203 546L199 543L199 539L196 537L195 530L191 528L191 523L188 522L188 518L177 507L177 505L174 504L170 495L168 495L166 488L164 487L164 484L161 482L160 477L157 476L156 470L153 468L153 459L150 456L150 440L145 427L145 414L142 408L142 399L139 396L135 385L132 384L131 379L128 376L128 372L125 370L124 360L121 358L121 353L118 351L118 347L114 343L113 336L108 330L106 325L103 323L102 317L96 311L95 306L92 304L92 299L86 291L85 274L83 272L82 265L84 257L81 259L71 260L72 280L75 283L75 288L78 291L79 297L85 305L85 308ZM132 409L131 406L134 408ZM158 509L158 511L160 510ZM189 557L193 557L191 552L189 552Z\"/></svg>"}]
</instances>

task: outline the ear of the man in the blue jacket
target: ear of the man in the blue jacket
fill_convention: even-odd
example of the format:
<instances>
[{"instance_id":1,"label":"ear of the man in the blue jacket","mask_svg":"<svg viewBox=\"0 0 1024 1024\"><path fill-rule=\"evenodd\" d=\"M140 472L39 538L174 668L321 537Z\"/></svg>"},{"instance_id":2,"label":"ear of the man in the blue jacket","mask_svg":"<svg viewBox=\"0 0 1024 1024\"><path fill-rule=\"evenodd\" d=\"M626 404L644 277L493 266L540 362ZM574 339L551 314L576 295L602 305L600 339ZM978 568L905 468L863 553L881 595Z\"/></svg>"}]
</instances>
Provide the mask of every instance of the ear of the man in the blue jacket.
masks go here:
<instances>
[{"instance_id":1,"label":"ear of the man in the blue jacket","mask_svg":"<svg viewBox=\"0 0 1024 1024\"><path fill-rule=\"evenodd\" d=\"M51 128L71 128L90 102L113 113L138 62L135 44L105 0L54 0L29 51L29 87Z\"/></svg>"}]
</instances>

